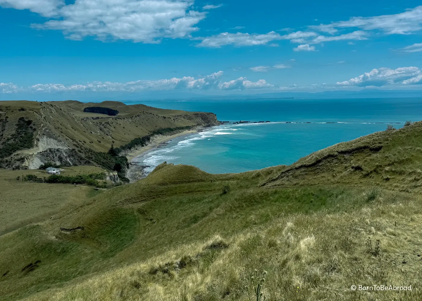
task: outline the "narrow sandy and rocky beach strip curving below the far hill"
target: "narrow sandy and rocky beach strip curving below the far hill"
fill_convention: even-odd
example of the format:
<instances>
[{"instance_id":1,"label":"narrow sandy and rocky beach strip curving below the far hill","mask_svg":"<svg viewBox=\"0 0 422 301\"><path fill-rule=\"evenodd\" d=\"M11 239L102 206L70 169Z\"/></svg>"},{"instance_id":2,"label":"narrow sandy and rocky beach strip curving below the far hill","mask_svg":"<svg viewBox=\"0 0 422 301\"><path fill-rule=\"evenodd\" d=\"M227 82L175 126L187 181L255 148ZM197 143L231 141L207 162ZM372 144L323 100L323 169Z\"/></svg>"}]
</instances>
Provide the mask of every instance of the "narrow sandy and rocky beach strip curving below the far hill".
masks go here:
<instances>
[{"instance_id":1,"label":"narrow sandy and rocky beach strip curving below the far hill","mask_svg":"<svg viewBox=\"0 0 422 301\"><path fill-rule=\"evenodd\" d=\"M143 169L145 169L147 166L138 165L138 162L132 162L133 159L135 159L136 157L149 151L152 151L156 148L165 147L166 145L168 145L168 142L175 138L187 136L189 134L199 133L209 127L211 126L198 126L194 129L189 129L169 136L155 135L154 137L151 137L150 143L148 145L135 148L126 155L127 161L129 161L130 164L126 172L126 177L130 180L130 183L134 183L137 180L141 180L142 178L146 177L145 173L143 172Z\"/></svg>"}]
</instances>

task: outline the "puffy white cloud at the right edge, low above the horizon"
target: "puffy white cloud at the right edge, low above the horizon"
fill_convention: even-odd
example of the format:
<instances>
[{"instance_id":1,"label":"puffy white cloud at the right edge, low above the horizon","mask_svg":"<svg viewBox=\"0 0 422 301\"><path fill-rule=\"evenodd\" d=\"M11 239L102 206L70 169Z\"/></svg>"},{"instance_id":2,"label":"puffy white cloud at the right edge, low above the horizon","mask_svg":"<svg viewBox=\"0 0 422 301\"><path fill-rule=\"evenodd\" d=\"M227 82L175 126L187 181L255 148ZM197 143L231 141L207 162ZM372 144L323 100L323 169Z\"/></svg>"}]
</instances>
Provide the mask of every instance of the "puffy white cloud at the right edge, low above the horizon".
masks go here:
<instances>
[{"instance_id":1,"label":"puffy white cloud at the right edge, low above the horizon","mask_svg":"<svg viewBox=\"0 0 422 301\"><path fill-rule=\"evenodd\" d=\"M400 67L397 69L379 68L365 72L349 81L337 82L339 86L386 86L419 83L421 70L418 67Z\"/></svg>"}]
</instances>

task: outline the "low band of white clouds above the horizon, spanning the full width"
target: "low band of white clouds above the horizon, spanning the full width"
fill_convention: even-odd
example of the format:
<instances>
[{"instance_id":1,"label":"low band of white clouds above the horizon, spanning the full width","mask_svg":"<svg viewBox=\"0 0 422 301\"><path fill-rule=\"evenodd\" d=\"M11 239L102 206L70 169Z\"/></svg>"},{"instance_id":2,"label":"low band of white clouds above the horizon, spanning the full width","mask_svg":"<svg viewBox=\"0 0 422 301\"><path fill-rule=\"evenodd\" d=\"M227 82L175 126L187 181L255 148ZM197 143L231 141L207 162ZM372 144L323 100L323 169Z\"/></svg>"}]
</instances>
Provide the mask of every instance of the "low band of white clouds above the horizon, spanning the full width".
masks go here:
<instances>
[{"instance_id":1,"label":"low band of white clouds above the horizon, spanning the full width","mask_svg":"<svg viewBox=\"0 0 422 301\"><path fill-rule=\"evenodd\" d=\"M287 66L277 66L286 68ZM264 72L276 66L257 66L252 67L255 72ZM396 69L379 68L370 72L365 72L348 81L338 81L335 85L311 86L276 86L267 83L264 79L252 82L246 77L239 77L231 81L222 81L220 77L223 71L204 76L202 78L193 78L184 76L182 78L170 78L157 81L138 80L126 83L118 82L100 82L94 81L84 84L63 85L57 83L38 83L28 87L18 86L15 83L0 83L0 92L2 94L13 94L19 92L32 93L63 93L63 92L142 92L142 91L168 91L168 90L210 90L210 91L240 91L245 89L262 89L269 91L333 91L344 90L344 88L374 88L383 87L386 89L403 89L406 86L414 86L422 84L422 72L418 67L400 67ZM422 88L422 86L421 86ZM353 89L356 90L356 89Z\"/></svg>"}]
</instances>

